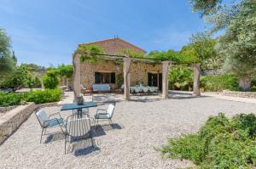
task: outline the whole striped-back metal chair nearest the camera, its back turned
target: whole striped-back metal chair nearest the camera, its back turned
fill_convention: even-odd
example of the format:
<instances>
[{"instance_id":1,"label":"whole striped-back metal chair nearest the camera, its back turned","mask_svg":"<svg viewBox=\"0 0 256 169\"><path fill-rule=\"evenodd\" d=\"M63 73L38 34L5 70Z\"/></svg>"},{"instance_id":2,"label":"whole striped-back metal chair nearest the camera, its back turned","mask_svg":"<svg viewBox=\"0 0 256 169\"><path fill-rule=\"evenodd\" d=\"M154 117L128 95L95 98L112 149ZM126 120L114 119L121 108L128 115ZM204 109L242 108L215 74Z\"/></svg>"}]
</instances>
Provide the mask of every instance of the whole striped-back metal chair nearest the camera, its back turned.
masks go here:
<instances>
[{"instance_id":1,"label":"whole striped-back metal chair nearest the camera, its back turned","mask_svg":"<svg viewBox=\"0 0 256 169\"><path fill-rule=\"evenodd\" d=\"M67 117L65 132L65 155L67 142L69 142L69 144L72 144L74 141L83 138L90 138L91 145L94 146L90 130L90 117L86 114L82 114L82 116L70 115L69 117Z\"/></svg>"}]
</instances>

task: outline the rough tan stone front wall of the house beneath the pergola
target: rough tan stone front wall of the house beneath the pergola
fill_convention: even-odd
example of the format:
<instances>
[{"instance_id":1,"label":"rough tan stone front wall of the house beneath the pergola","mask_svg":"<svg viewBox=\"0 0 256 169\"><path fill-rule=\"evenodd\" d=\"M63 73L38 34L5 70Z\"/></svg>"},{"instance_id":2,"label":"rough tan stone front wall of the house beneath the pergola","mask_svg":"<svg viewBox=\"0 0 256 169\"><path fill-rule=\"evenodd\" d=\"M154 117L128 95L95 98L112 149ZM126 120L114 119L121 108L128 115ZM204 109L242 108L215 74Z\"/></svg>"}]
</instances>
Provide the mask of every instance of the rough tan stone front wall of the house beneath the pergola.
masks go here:
<instances>
[{"instance_id":1,"label":"rough tan stone front wall of the house beneath the pergola","mask_svg":"<svg viewBox=\"0 0 256 169\"><path fill-rule=\"evenodd\" d=\"M119 74L123 74L123 66L115 64L113 61L98 61L95 64L90 64L87 61L81 64L80 71L81 84L84 87L91 87L95 83L95 72L115 72L117 79ZM148 84L148 73L161 73L161 71L162 65L131 62L131 86L137 82ZM115 88L117 85L110 84L110 87Z\"/></svg>"}]
</instances>

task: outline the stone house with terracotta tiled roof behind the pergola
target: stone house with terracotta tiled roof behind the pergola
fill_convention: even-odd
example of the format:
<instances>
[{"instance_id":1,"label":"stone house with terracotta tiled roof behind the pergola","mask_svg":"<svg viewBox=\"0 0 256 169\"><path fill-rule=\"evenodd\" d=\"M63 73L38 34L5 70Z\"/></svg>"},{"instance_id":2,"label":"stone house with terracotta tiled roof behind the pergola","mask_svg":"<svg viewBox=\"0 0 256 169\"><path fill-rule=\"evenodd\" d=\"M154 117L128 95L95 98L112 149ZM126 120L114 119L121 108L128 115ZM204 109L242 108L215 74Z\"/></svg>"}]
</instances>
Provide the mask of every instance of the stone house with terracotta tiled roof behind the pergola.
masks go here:
<instances>
[{"instance_id":1,"label":"stone house with terracotta tiled roof behind the pergola","mask_svg":"<svg viewBox=\"0 0 256 169\"><path fill-rule=\"evenodd\" d=\"M130 42L120 38L112 38L97 42L88 42L84 44L94 44L100 46L105 54L110 56L119 55L125 49L131 49L138 54L146 54L146 51ZM113 57L104 60L98 60L91 64L89 61L79 65L79 82L84 87L91 87L97 83L108 83L111 89L120 87L120 79L123 78L123 60L119 62ZM162 65L152 64L148 60L133 59L130 67L131 86L143 83L144 85L162 88Z\"/></svg>"}]
</instances>

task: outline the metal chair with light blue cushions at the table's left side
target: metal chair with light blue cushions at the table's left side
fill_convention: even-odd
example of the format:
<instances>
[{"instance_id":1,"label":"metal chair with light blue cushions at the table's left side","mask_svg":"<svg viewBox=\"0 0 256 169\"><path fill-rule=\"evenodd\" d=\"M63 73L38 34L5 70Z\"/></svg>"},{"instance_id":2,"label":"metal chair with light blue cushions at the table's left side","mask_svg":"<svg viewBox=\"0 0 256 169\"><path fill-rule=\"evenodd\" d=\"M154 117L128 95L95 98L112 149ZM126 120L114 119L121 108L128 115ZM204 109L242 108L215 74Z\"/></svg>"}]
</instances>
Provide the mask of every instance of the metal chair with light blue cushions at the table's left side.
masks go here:
<instances>
[{"instance_id":1,"label":"metal chair with light blue cushions at the table's left side","mask_svg":"<svg viewBox=\"0 0 256 169\"><path fill-rule=\"evenodd\" d=\"M59 126L59 127L61 127L61 131L63 132L62 126L64 124L64 120L61 117L60 112L57 112L52 115L47 115L44 110L39 109L39 110L35 111L35 115L37 116L39 124L42 128L40 144L42 142L42 137L43 137L43 135L45 135L47 128ZM60 118L51 118L51 116L53 116L53 115L59 115Z\"/></svg>"}]
</instances>

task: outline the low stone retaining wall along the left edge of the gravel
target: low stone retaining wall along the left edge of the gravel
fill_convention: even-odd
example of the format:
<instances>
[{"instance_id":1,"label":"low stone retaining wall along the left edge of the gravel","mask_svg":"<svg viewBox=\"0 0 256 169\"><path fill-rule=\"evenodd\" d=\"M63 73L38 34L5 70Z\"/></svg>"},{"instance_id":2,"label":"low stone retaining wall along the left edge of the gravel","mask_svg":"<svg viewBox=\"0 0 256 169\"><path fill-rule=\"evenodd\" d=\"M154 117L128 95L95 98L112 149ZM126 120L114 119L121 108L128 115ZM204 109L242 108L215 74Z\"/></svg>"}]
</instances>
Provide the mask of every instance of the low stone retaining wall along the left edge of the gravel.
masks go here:
<instances>
[{"instance_id":1,"label":"low stone retaining wall along the left edge of the gravel","mask_svg":"<svg viewBox=\"0 0 256 169\"><path fill-rule=\"evenodd\" d=\"M13 110L9 110L0 118L0 144L15 132L22 122L32 114L38 106L34 103L19 105Z\"/></svg>"}]
</instances>

